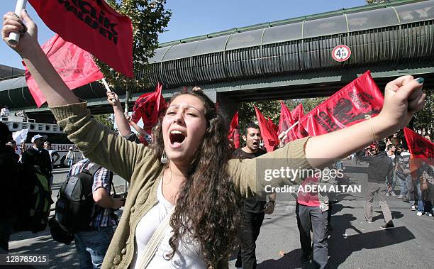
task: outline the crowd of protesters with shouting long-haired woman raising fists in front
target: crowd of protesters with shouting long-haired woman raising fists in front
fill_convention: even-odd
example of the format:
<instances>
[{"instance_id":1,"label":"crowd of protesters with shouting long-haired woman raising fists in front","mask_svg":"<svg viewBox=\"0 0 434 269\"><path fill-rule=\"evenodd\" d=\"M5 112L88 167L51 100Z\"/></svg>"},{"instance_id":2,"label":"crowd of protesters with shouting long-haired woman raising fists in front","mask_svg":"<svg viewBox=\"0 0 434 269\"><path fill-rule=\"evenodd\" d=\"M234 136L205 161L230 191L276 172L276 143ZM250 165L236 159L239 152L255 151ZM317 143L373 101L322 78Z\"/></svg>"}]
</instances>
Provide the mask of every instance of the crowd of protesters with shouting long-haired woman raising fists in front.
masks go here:
<instances>
[{"instance_id":1,"label":"crowd of protesters with shouting long-haired woman raising fists in front","mask_svg":"<svg viewBox=\"0 0 434 269\"><path fill-rule=\"evenodd\" d=\"M121 123L121 136L118 136L97 123L87 104L66 87L40 50L35 24L26 11L21 16L26 28L13 13L5 15L3 38L7 41L11 31L21 33L19 45L11 48L23 57L69 139L89 158L72 165L75 157L71 155L68 177L91 170L94 164L101 165L91 173L97 214L85 231L74 233L82 268L226 268L228 257L238 246L237 266L255 268L255 241L264 214L271 214L276 203L275 195L264 191L265 185L335 184L330 179L300 176L292 182L284 179L265 182L257 179L257 162L284 159L291 169L327 170L336 160L406 126L425 99L421 90L423 79L399 77L386 85L384 106L378 116L333 133L301 138L262 154L260 131L254 125L246 128L246 146L232 153L221 111L200 90L174 95L152 136L135 123L131 125L139 135L130 131L130 121L123 115L116 94L111 93L108 99L118 124ZM1 128L3 170L6 165L16 163L16 158L13 151L6 150L9 132ZM50 180L52 157L43 149L45 139L34 136L33 147L22 153L21 161L38 166ZM401 198L408 199L418 215L425 212L424 204L430 207L428 200L423 199L423 192L429 190L433 180L432 166L418 163L414 172L405 148L391 160L393 150L393 146L380 141L360 155L362 161L369 163L368 182L372 179L373 183L369 185L365 209L367 221L372 221L369 212L372 212L374 195L383 197L388 191L394 195L394 175L406 183ZM110 171L130 183L126 201L110 196ZM315 268L325 268L328 263L329 204L328 197L321 193L299 193L296 198L301 261L311 260ZM387 212L389 208L385 202L381 206L386 221L382 228L391 229L394 225ZM112 213L119 207L124 210L118 222ZM3 242L1 247L6 251L11 218L0 222L2 241L6 241L6 247ZM117 228L113 233L114 225Z\"/></svg>"}]
</instances>

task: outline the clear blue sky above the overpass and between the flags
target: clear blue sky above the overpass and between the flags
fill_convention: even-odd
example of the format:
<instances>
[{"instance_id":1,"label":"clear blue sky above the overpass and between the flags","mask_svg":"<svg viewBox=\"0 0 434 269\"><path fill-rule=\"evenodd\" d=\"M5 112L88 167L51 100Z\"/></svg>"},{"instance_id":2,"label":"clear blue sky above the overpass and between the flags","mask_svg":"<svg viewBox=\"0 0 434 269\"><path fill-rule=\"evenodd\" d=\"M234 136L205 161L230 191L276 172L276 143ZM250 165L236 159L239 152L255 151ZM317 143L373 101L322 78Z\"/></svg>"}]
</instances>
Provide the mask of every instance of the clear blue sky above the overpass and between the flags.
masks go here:
<instances>
[{"instance_id":1,"label":"clear blue sky above the overpass and between the flags","mask_svg":"<svg viewBox=\"0 0 434 269\"><path fill-rule=\"evenodd\" d=\"M15 0L0 0L0 14L15 9ZM51 0L50 0L51 1ZM167 0L172 18L160 43L205 35L235 27L279 21L287 18L364 6L364 0ZM38 41L42 45L54 33L40 20L28 4L27 11L38 24ZM21 58L6 43L0 42L0 65L23 68Z\"/></svg>"}]
</instances>

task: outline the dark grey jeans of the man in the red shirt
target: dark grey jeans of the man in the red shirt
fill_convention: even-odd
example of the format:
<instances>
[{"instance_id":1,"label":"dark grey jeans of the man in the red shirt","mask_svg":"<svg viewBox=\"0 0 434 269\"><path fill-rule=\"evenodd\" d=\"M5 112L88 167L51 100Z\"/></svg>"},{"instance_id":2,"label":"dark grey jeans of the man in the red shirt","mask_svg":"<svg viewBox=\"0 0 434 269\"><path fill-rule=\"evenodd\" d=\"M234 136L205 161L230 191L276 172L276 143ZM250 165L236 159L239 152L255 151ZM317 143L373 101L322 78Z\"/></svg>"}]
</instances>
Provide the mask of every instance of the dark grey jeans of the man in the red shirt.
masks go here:
<instances>
[{"instance_id":1,"label":"dark grey jeans of the man in the red shirt","mask_svg":"<svg viewBox=\"0 0 434 269\"><path fill-rule=\"evenodd\" d=\"M328 212L322 212L319 207L308 207L297 203L296 216L304 258L308 258L313 253L313 268L325 268L328 262Z\"/></svg>"}]
</instances>

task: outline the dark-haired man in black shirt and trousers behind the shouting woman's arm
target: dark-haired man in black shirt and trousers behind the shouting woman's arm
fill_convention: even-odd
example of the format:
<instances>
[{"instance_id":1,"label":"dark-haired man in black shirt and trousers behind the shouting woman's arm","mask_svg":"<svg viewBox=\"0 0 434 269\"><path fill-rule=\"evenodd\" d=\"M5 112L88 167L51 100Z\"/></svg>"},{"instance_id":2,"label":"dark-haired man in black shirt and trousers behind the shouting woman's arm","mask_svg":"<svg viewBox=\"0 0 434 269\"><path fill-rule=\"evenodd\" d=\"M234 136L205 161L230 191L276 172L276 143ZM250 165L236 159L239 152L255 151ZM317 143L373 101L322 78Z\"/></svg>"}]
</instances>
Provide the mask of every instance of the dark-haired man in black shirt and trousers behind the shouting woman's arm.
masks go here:
<instances>
[{"instance_id":1,"label":"dark-haired man in black shirt and trousers behind the shouting woman's arm","mask_svg":"<svg viewBox=\"0 0 434 269\"><path fill-rule=\"evenodd\" d=\"M259 148L261 141L260 129L254 123L250 123L245 129L243 139L246 142L244 148L238 148L233 153L234 159L252 159L267 153ZM256 239L260 234L264 215L272 214L274 211L274 201L276 194L268 196L269 202L260 197L245 199L243 205L243 224L240 226L240 251L235 263L237 268L256 268Z\"/></svg>"}]
</instances>

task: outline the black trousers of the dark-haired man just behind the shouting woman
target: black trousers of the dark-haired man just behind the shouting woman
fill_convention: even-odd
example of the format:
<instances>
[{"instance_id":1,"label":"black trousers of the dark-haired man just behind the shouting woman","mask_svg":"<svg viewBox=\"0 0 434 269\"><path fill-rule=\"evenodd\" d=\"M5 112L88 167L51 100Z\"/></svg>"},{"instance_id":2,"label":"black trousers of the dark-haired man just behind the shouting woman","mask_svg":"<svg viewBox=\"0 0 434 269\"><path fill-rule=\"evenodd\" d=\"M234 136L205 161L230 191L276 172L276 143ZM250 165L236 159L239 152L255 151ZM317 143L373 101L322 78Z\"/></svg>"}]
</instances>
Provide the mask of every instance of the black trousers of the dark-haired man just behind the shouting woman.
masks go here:
<instances>
[{"instance_id":1,"label":"black trousers of the dark-haired man just behind the shouting woman","mask_svg":"<svg viewBox=\"0 0 434 269\"><path fill-rule=\"evenodd\" d=\"M256 268L256 239L261 231L264 213L243 212L243 216L243 224L238 232L240 250L235 267L251 269Z\"/></svg>"}]
</instances>

